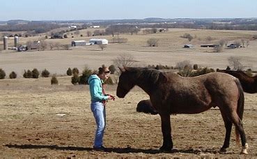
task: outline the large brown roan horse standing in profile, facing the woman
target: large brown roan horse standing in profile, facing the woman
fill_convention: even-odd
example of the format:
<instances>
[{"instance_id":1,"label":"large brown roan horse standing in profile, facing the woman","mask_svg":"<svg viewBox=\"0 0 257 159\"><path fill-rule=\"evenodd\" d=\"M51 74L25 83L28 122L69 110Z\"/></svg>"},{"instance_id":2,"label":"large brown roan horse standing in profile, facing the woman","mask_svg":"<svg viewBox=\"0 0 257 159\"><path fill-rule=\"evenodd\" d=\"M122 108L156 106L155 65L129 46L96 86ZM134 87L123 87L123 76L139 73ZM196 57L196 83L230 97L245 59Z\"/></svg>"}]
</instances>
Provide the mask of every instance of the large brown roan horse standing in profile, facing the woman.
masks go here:
<instances>
[{"instance_id":1,"label":"large brown roan horse standing in profile, facing the woman","mask_svg":"<svg viewBox=\"0 0 257 159\"><path fill-rule=\"evenodd\" d=\"M120 68L117 96L124 98L135 86L150 96L150 102L162 121L163 144L161 151L171 151L170 114L196 114L211 107L219 107L225 123L226 136L221 151L229 146L232 125L239 135L242 152L247 153L247 141L242 126L244 92L240 82L226 73L208 73L198 77L180 77L171 72L148 68Z\"/></svg>"}]
</instances>

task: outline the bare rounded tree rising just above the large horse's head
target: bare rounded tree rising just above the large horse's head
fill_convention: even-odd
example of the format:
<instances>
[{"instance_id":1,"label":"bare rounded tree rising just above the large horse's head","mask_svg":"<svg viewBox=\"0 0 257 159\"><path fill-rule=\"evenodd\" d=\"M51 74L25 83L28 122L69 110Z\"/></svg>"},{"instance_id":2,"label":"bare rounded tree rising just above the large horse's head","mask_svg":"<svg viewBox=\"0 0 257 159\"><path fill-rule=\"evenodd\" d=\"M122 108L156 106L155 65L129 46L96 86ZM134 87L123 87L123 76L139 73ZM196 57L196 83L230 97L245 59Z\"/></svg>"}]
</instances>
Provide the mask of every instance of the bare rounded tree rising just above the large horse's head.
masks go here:
<instances>
[{"instance_id":1,"label":"bare rounded tree rising just above the large horse's head","mask_svg":"<svg viewBox=\"0 0 257 159\"><path fill-rule=\"evenodd\" d=\"M130 67L134 65L134 62L134 56L131 54L120 54L120 56L114 59L114 66Z\"/></svg>"}]
</instances>

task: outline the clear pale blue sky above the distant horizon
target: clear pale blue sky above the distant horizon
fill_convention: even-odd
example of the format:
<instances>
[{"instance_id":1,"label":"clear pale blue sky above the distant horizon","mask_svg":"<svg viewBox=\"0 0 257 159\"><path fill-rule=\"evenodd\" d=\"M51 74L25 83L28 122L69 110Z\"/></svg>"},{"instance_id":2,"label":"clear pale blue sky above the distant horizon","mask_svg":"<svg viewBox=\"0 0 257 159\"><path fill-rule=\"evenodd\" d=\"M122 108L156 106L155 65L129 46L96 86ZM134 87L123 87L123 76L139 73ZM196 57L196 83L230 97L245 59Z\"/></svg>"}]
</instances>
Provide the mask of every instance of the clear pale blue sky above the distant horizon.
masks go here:
<instances>
[{"instance_id":1,"label":"clear pale blue sky above the distant horizon","mask_svg":"<svg viewBox=\"0 0 257 159\"><path fill-rule=\"evenodd\" d=\"M0 0L0 21L257 17L256 0Z\"/></svg>"}]
</instances>

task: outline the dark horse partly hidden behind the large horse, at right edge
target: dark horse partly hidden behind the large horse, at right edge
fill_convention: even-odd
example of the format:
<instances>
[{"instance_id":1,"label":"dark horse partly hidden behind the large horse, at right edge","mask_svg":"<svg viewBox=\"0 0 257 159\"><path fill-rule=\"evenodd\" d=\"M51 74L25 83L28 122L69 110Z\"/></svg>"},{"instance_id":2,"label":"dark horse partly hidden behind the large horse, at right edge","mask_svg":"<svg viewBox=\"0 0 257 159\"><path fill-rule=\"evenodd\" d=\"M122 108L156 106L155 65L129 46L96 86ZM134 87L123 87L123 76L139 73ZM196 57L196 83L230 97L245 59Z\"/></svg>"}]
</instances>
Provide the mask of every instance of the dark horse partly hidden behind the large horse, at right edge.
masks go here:
<instances>
[{"instance_id":1,"label":"dark horse partly hidden behind the large horse, at right edge","mask_svg":"<svg viewBox=\"0 0 257 159\"><path fill-rule=\"evenodd\" d=\"M237 77L242 85L242 88L247 93L257 93L257 76L250 77L246 73L242 72L242 70L219 70L217 72L220 73L228 73Z\"/></svg>"}]
</instances>

